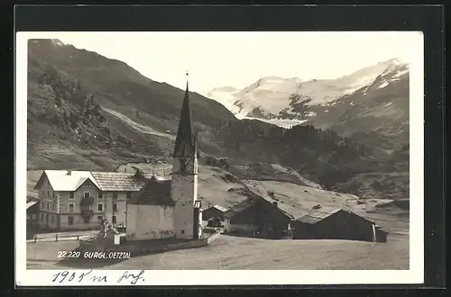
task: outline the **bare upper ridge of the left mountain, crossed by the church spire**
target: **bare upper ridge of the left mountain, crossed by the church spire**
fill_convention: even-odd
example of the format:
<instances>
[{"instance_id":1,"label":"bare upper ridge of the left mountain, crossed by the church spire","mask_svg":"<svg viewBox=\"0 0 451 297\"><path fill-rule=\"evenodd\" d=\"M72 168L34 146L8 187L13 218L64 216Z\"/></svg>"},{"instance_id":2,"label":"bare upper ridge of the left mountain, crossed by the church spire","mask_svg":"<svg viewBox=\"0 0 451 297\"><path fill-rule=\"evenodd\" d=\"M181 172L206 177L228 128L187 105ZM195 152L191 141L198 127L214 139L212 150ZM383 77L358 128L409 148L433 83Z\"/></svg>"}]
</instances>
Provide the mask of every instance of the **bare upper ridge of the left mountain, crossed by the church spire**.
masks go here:
<instances>
[{"instance_id":1,"label":"bare upper ridge of the left mountain, crossed by the church spire","mask_svg":"<svg viewBox=\"0 0 451 297\"><path fill-rule=\"evenodd\" d=\"M106 107L128 110L139 106L161 130L177 125L183 90L142 76L122 61L103 57L96 52L63 45L59 40L29 40L31 73L41 72L42 65L55 68L62 76L78 80L95 100ZM234 116L224 106L197 93L190 94L193 117L207 126L232 121ZM166 128L166 129L165 129Z\"/></svg>"}]
</instances>

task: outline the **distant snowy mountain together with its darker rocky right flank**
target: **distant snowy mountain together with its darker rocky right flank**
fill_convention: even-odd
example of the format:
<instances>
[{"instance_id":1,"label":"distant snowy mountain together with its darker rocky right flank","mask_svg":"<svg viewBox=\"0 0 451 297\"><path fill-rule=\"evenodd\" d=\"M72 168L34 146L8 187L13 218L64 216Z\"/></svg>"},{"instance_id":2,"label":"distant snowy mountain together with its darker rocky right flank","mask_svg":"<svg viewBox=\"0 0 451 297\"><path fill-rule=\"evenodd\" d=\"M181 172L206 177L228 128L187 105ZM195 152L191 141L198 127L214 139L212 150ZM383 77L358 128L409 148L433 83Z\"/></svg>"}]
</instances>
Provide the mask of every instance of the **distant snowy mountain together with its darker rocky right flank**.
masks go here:
<instances>
[{"instance_id":1,"label":"distant snowy mountain together with its darker rocky right flank","mask_svg":"<svg viewBox=\"0 0 451 297\"><path fill-rule=\"evenodd\" d=\"M398 59L336 79L268 76L243 90L216 88L208 95L238 118L281 127L308 121L371 147L395 149L409 142L409 66Z\"/></svg>"}]
</instances>

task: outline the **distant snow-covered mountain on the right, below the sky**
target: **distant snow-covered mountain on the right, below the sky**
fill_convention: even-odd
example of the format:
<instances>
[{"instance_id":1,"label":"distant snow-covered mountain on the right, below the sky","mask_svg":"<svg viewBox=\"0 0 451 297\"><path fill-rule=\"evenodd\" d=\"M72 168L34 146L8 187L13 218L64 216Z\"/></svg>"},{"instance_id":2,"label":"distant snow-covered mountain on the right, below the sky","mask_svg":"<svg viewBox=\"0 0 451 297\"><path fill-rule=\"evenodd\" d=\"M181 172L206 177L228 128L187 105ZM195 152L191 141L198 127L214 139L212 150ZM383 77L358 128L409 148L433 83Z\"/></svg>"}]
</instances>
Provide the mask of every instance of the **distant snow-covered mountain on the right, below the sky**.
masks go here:
<instances>
[{"instance_id":1,"label":"distant snow-covered mountain on the right, below the sky","mask_svg":"<svg viewBox=\"0 0 451 297\"><path fill-rule=\"evenodd\" d=\"M359 90L364 96L406 77L409 65L391 58L336 79L266 76L242 90L217 87L207 97L222 103L238 119L254 118L287 127L312 120L318 109L327 112L327 106Z\"/></svg>"}]
</instances>

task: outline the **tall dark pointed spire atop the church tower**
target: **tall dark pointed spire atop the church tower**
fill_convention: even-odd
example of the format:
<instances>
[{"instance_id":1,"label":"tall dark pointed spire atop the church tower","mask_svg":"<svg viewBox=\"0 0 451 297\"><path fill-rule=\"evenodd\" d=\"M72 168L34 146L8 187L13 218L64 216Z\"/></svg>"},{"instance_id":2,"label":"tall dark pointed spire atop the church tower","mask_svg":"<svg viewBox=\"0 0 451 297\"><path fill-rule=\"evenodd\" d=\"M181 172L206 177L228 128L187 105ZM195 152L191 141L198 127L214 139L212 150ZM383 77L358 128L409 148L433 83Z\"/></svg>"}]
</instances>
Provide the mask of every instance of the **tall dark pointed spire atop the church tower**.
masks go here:
<instances>
[{"instance_id":1,"label":"tall dark pointed spire atop the church tower","mask_svg":"<svg viewBox=\"0 0 451 297\"><path fill-rule=\"evenodd\" d=\"M179 130L175 139L175 148L173 157L194 157L196 154L196 145L194 139L193 123L191 119L191 107L189 104L189 86L187 72L187 89L180 112Z\"/></svg>"}]
</instances>

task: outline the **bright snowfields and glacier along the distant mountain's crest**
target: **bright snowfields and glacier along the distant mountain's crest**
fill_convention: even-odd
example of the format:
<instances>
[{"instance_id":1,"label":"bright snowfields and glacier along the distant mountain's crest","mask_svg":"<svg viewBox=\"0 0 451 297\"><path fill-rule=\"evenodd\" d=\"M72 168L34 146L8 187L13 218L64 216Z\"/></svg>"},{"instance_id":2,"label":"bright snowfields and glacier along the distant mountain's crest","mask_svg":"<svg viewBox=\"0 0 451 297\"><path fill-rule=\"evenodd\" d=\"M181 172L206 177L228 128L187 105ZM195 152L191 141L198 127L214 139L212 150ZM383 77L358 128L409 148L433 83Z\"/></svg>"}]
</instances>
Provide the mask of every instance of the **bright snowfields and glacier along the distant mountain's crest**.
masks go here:
<instances>
[{"instance_id":1,"label":"bright snowfields and glacier along the distant mountain's crest","mask_svg":"<svg viewBox=\"0 0 451 297\"><path fill-rule=\"evenodd\" d=\"M312 79L302 81L299 77L281 78L266 76L252 85L236 90L233 87L217 87L207 96L224 104L238 118L298 118L304 114L293 110L295 104L303 101L308 105L327 105L336 99L353 94L356 90L373 84L378 76L398 71L400 75L409 71L406 64L391 59L376 65L365 67L354 73L336 79ZM291 95L297 95L295 100ZM253 114L262 112L260 116ZM284 112L288 114L284 115Z\"/></svg>"}]
</instances>

